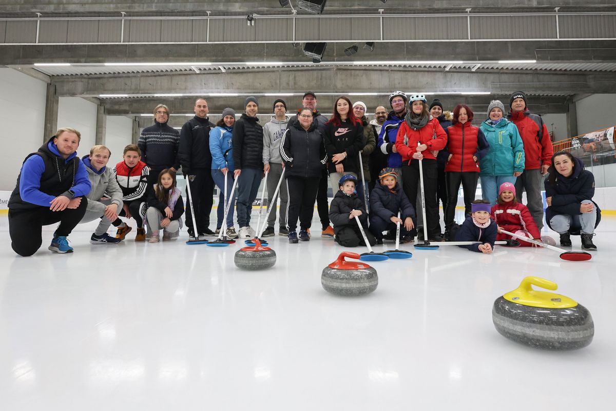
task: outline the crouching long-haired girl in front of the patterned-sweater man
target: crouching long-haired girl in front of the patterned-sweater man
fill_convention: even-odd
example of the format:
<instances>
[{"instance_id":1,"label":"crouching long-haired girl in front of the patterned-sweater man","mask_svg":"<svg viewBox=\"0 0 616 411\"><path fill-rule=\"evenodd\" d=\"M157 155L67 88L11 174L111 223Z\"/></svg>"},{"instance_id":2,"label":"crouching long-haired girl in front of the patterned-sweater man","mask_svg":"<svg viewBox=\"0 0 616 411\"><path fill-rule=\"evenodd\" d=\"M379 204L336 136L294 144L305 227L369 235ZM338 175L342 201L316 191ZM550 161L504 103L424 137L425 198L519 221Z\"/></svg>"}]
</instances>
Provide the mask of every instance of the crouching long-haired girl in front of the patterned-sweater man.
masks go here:
<instances>
[{"instance_id":1,"label":"crouching long-haired girl in front of the patterned-sweater man","mask_svg":"<svg viewBox=\"0 0 616 411\"><path fill-rule=\"evenodd\" d=\"M164 229L163 241L176 238L182 228L184 200L176 187L176 173L166 168L158 175L158 182L148 192L148 210L145 224L152 233L150 243L158 243L160 229Z\"/></svg>"}]
</instances>

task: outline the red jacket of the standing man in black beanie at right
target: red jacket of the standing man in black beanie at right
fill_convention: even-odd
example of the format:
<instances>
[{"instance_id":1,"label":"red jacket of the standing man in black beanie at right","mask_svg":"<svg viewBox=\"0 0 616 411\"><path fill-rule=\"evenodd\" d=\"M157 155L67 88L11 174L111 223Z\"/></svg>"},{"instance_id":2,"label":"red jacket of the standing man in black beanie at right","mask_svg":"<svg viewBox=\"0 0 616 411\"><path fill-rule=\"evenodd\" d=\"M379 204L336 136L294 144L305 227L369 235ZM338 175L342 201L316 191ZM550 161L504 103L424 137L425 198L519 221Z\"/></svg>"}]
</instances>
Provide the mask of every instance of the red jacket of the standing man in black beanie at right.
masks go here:
<instances>
[{"instance_id":1,"label":"red jacket of the standing man in black beanie at right","mask_svg":"<svg viewBox=\"0 0 616 411\"><path fill-rule=\"evenodd\" d=\"M508 118L516 124L524 142L524 169L532 170L541 168L541 165L551 165L554 147L541 117L532 114L527 108L524 112L509 113Z\"/></svg>"}]
</instances>

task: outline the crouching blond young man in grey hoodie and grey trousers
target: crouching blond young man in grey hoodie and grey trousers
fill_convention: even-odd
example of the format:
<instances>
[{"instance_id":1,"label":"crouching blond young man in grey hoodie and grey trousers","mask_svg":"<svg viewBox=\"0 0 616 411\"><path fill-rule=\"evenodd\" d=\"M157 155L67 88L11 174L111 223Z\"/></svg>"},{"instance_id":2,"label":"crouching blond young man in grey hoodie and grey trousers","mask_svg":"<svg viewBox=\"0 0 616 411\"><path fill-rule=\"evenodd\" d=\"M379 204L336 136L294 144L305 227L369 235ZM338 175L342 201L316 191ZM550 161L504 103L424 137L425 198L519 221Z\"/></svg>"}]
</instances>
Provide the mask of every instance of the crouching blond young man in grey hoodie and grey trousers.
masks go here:
<instances>
[{"instance_id":1,"label":"crouching blond young man in grey hoodie and grey trousers","mask_svg":"<svg viewBox=\"0 0 616 411\"><path fill-rule=\"evenodd\" d=\"M111 237L107 230L112 221L118 218L122 210L122 189L118 185L113 169L107 167L111 151L104 145L95 145L90 149L90 155L84 156L87 177L92 184L90 193L86 196L86 214L79 224L100 218L99 226L90 237L91 244L117 244L121 238Z\"/></svg>"}]
</instances>

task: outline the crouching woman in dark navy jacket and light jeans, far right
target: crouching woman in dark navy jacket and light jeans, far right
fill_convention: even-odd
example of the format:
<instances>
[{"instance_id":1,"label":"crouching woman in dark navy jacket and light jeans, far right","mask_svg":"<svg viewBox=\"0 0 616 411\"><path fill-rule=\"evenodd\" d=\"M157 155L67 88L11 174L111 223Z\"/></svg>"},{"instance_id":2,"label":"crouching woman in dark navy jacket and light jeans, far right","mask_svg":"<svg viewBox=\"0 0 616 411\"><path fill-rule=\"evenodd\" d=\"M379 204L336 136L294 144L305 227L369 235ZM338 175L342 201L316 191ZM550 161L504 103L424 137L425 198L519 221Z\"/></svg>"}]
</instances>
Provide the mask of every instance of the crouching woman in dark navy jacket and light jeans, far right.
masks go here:
<instances>
[{"instance_id":1,"label":"crouching woman in dark navy jacket and light jeans, far right","mask_svg":"<svg viewBox=\"0 0 616 411\"><path fill-rule=\"evenodd\" d=\"M582 160L569 152L552 156L545 181L545 219L549 228L561 235L561 245L571 245L571 234L580 234L582 248L596 250L594 229L601 221L601 210L593 201L594 176L584 169Z\"/></svg>"}]
</instances>

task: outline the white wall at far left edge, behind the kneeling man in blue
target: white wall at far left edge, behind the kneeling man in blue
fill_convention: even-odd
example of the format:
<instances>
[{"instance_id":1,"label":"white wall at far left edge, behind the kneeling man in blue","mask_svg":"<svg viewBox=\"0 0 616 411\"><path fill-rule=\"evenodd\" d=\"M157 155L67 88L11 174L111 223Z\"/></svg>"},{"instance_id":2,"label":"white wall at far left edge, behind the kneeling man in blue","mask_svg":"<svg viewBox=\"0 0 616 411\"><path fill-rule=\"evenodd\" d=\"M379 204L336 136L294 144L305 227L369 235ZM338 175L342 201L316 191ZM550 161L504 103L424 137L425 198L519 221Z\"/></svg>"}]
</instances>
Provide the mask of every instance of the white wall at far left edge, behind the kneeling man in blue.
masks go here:
<instances>
[{"instance_id":1,"label":"white wall at far left edge, behind the kneeling man in blue","mask_svg":"<svg viewBox=\"0 0 616 411\"><path fill-rule=\"evenodd\" d=\"M0 68L0 190L12 190L23 159L43 144L47 84L12 68Z\"/></svg>"}]
</instances>

